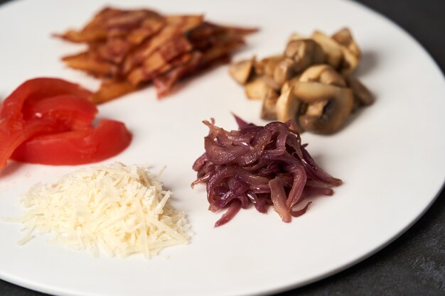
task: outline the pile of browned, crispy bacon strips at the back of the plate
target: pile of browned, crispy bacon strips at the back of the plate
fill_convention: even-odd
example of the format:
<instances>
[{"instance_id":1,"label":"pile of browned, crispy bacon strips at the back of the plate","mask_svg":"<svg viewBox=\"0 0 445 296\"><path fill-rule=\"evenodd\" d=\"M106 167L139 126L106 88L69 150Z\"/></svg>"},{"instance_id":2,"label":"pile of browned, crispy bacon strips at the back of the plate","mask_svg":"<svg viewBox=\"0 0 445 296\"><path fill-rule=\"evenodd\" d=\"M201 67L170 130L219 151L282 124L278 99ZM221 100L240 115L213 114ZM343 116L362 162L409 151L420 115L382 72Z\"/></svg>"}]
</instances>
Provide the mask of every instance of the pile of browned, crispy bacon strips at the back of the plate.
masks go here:
<instances>
[{"instance_id":1,"label":"pile of browned, crispy bacon strips at the back of the plate","mask_svg":"<svg viewBox=\"0 0 445 296\"><path fill-rule=\"evenodd\" d=\"M100 104L149 82L158 97L183 77L230 61L255 28L220 26L202 15L161 15L148 9L102 9L80 31L57 35L87 50L63 57L73 69L101 78L92 102Z\"/></svg>"}]
</instances>

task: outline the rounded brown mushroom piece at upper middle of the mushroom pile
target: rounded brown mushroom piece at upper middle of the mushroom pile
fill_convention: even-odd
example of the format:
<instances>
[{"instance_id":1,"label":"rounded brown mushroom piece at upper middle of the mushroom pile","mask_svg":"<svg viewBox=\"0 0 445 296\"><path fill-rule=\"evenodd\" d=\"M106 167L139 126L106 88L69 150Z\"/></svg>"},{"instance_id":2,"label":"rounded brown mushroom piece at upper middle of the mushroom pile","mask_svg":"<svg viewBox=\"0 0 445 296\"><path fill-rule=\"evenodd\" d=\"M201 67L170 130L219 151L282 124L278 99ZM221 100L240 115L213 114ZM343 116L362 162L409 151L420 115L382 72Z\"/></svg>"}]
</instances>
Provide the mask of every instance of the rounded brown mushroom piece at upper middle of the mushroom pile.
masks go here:
<instances>
[{"instance_id":1,"label":"rounded brown mushroom piece at upper middle of the mushroom pile","mask_svg":"<svg viewBox=\"0 0 445 296\"><path fill-rule=\"evenodd\" d=\"M304 71L311 65L321 64L325 58L321 46L312 39L291 40L284 50L284 55L295 61L295 72Z\"/></svg>"}]
</instances>

